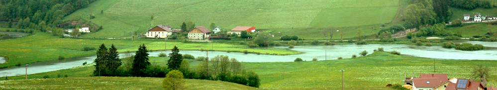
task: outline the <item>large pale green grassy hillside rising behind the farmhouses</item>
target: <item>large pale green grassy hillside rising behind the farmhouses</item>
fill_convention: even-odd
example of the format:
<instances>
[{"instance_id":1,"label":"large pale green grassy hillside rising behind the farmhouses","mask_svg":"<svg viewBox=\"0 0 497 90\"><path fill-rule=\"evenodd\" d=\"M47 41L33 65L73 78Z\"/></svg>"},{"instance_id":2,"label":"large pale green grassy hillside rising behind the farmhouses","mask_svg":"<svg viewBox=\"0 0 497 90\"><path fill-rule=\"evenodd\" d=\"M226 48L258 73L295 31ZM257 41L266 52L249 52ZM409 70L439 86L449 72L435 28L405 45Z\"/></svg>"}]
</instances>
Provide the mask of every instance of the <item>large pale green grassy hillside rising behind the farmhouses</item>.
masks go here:
<instances>
[{"instance_id":1,"label":"large pale green grassy hillside rising behind the farmhouses","mask_svg":"<svg viewBox=\"0 0 497 90\"><path fill-rule=\"evenodd\" d=\"M236 26L258 29L353 27L391 22L399 0L98 0L65 19L85 18L103 25L103 30L84 37L123 37L141 33L149 25L184 21L197 26ZM100 11L103 10L103 13ZM153 18L153 19L151 19ZM132 28L132 26L134 26Z\"/></svg>"}]
</instances>

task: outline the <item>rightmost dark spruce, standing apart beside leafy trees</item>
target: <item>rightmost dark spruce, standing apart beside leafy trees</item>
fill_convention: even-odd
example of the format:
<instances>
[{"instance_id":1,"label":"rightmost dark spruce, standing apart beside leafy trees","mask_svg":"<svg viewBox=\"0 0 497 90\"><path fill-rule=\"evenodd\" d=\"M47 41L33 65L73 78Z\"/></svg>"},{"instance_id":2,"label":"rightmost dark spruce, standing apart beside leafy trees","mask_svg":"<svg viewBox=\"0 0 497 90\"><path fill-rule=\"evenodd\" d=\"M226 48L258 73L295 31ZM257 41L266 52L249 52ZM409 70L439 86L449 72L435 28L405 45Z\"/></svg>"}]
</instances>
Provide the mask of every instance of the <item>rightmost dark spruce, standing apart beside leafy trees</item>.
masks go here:
<instances>
[{"instance_id":1,"label":"rightmost dark spruce, standing apart beside leafy trees","mask_svg":"<svg viewBox=\"0 0 497 90\"><path fill-rule=\"evenodd\" d=\"M167 61L167 68L171 70L178 70L180 68L181 62L183 60L183 56L179 53L180 49L174 46L171 49L171 53L169 54L169 60Z\"/></svg>"}]
</instances>

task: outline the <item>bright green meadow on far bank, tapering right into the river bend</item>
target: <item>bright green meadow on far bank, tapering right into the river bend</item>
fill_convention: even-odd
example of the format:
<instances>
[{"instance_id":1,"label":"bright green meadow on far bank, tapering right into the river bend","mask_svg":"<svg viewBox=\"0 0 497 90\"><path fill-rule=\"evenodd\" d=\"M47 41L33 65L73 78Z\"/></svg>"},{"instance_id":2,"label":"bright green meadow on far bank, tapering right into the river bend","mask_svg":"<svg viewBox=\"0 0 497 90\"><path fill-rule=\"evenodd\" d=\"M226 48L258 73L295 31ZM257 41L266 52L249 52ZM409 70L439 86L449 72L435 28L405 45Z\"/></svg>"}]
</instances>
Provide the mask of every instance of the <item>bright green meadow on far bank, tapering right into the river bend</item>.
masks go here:
<instances>
[{"instance_id":1,"label":"bright green meadow on far bank, tapering right into the river bend","mask_svg":"<svg viewBox=\"0 0 497 90\"><path fill-rule=\"evenodd\" d=\"M4 28L0 28L4 30ZM249 48L246 45L225 44L225 43L202 43L181 41L168 41L167 49L164 47L163 40L156 39L138 39L138 40L120 40L120 39L91 39L91 38L60 38L52 36L49 33L36 32L33 35L0 41L0 56L6 56L8 61L0 64L0 67L10 67L14 65L23 65L28 63L49 61L58 59L59 56L66 58L95 55L96 50L83 51L84 47L95 47L98 49L100 44L110 47L114 44L118 52L136 51L138 46L145 44L149 50L171 50L174 45L180 50L211 50L215 45L214 51L230 52L259 52L261 54L278 54L291 55L299 52L287 49L274 48ZM264 53L263 53L264 52Z\"/></svg>"}]
</instances>

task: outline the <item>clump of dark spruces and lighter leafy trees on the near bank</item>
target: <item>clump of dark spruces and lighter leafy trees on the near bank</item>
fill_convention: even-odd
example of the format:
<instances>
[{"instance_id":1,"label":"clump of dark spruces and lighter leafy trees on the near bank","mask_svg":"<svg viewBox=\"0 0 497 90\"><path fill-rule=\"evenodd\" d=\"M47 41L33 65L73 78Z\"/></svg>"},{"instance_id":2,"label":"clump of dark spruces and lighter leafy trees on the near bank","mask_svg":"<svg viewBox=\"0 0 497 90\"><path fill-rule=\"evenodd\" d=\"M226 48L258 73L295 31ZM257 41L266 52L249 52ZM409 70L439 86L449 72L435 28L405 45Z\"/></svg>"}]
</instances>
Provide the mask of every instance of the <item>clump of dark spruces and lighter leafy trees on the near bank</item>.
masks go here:
<instances>
[{"instance_id":1,"label":"clump of dark spruces and lighter leafy trees on the near bank","mask_svg":"<svg viewBox=\"0 0 497 90\"><path fill-rule=\"evenodd\" d=\"M164 78L170 71L179 71L185 79L226 81L257 88L260 86L259 76L252 71L243 70L241 63L235 58L229 59L223 55L210 60L203 58L201 63L192 69L188 60L179 53L177 46L174 46L171 52L166 66L160 66L149 62L145 45L140 45L134 56L125 55L129 58L120 59L114 45L107 49L101 44L97 51L93 76Z\"/></svg>"}]
</instances>

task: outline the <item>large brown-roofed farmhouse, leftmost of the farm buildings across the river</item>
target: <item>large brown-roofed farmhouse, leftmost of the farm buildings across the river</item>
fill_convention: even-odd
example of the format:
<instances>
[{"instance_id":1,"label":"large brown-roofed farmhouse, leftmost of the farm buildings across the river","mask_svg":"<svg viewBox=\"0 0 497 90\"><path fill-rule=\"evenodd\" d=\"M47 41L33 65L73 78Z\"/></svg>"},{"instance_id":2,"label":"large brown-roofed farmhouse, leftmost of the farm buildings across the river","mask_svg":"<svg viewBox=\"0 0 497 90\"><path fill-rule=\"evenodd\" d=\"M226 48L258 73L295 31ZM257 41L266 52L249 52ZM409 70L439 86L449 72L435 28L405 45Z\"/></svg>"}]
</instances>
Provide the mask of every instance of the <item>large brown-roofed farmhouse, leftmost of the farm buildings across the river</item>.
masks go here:
<instances>
[{"instance_id":1,"label":"large brown-roofed farmhouse, leftmost of the farm buildings across the river","mask_svg":"<svg viewBox=\"0 0 497 90\"><path fill-rule=\"evenodd\" d=\"M157 25L148 30L146 36L147 38L167 38L172 32L166 25Z\"/></svg>"}]
</instances>

